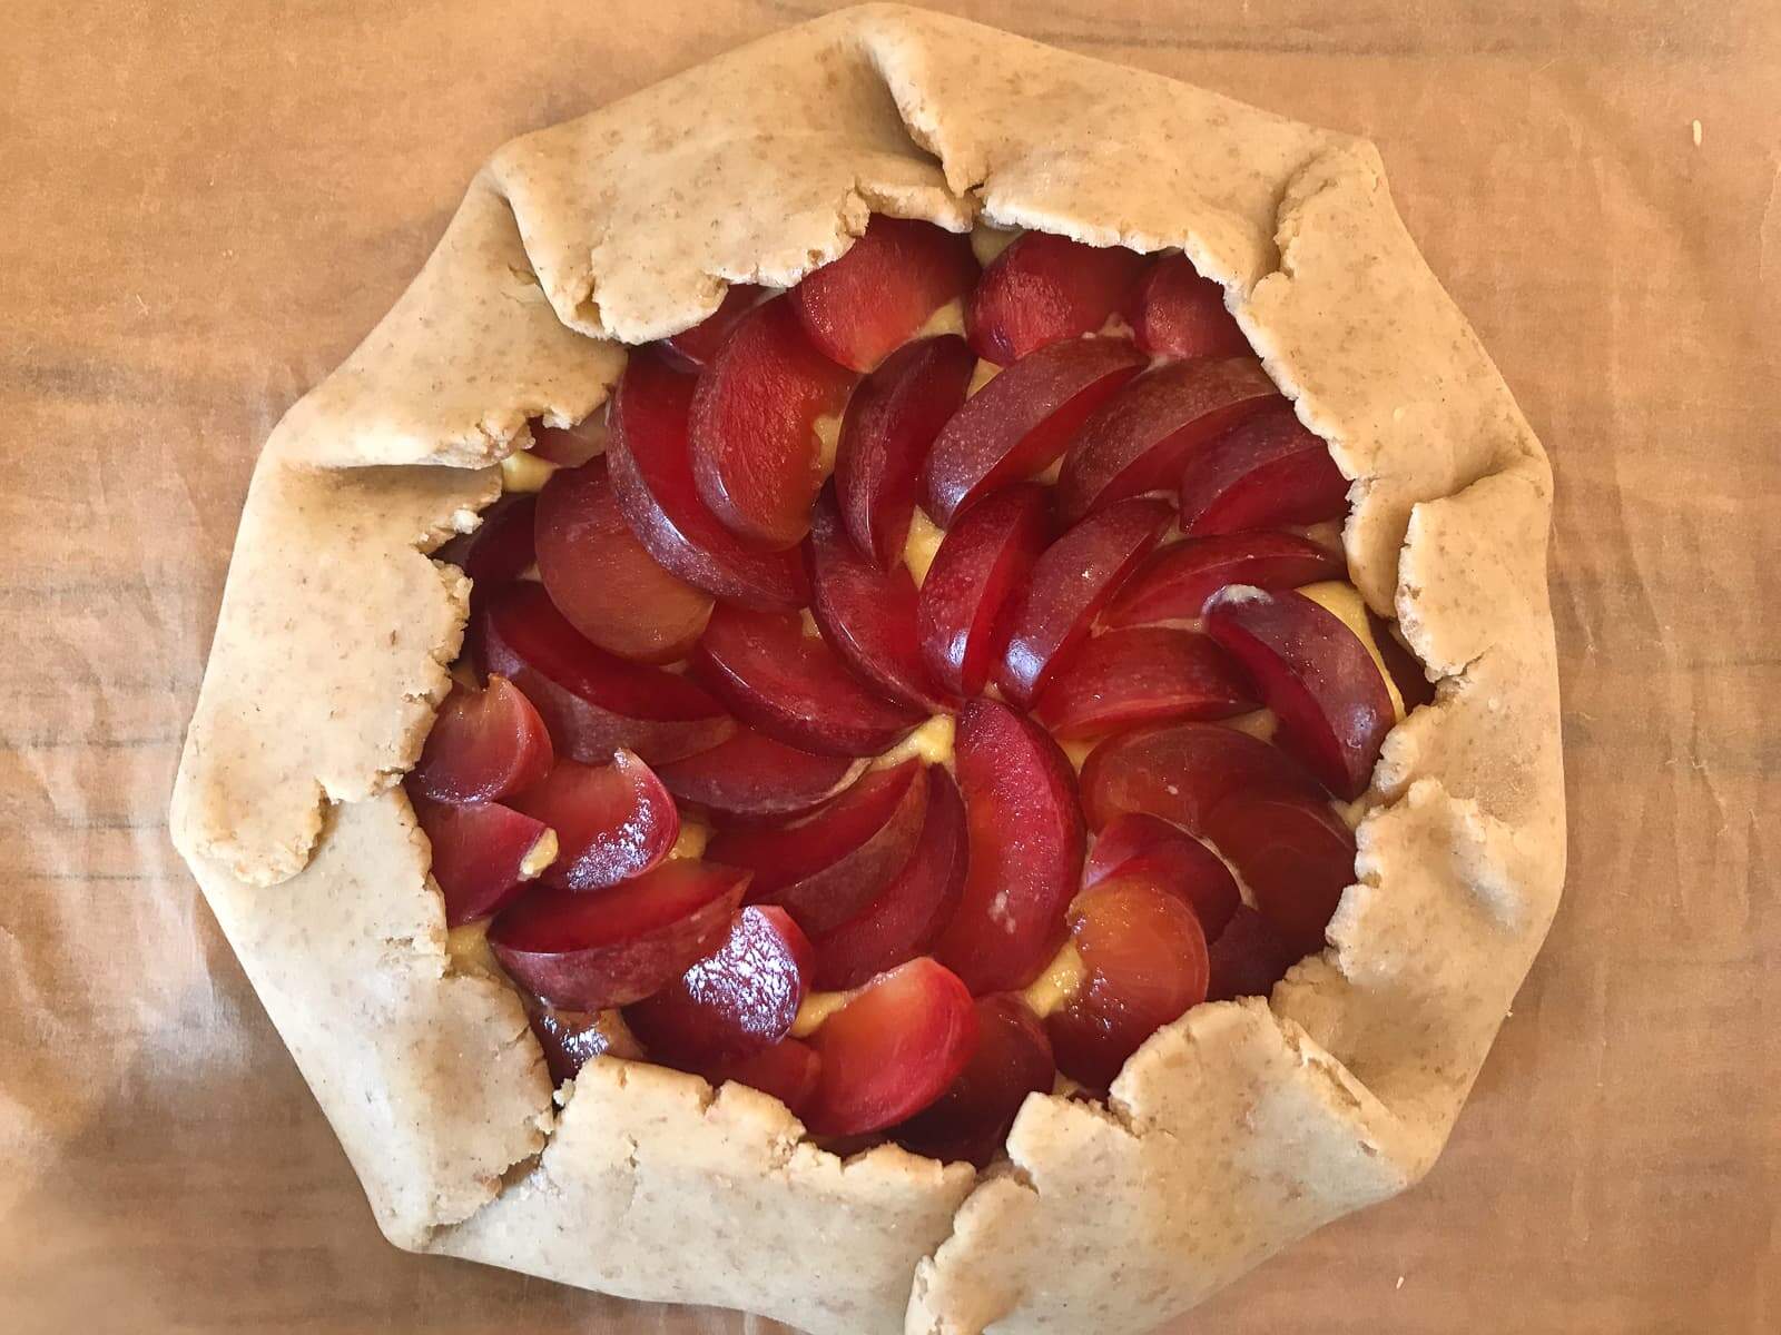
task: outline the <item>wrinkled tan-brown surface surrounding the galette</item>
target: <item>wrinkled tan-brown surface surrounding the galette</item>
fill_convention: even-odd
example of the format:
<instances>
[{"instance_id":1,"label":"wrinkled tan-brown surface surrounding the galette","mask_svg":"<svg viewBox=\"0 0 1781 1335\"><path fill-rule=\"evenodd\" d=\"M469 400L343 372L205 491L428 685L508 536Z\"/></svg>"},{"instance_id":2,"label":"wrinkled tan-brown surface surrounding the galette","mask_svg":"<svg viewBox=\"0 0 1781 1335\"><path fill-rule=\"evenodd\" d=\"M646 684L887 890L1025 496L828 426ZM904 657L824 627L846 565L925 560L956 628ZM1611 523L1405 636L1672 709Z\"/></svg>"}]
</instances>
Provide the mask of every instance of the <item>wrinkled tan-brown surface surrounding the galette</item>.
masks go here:
<instances>
[{"instance_id":1,"label":"wrinkled tan-brown surface surrounding the galette","mask_svg":"<svg viewBox=\"0 0 1781 1335\"><path fill-rule=\"evenodd\" d=\"M476 164L821 7L7 5L0 1330L766 1328L385 1246L164 805L255 450ZM1781 1330L1774 5L947 7L1375 137L1558 473L1551 942L1427 1184L1181 1330Z\"/></svg>"}]
</instances>

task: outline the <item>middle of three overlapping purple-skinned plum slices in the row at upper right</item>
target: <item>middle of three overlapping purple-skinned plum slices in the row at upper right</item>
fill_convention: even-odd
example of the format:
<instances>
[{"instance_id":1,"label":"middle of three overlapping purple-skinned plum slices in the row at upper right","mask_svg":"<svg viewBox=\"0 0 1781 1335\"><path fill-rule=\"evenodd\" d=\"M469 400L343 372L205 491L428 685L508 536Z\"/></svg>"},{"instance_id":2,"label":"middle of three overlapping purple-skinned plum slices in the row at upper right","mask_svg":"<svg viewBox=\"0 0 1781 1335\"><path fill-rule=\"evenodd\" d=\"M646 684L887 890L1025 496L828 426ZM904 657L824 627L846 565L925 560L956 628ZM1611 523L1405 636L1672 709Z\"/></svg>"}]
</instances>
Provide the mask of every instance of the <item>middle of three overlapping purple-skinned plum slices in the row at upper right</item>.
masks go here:
<instances>
[{"instance_id":1,"label":"middle of three overlapping purple-skinned plum slices in the row at upper right","mask_svg":"<svg viewBox=\"0 0 1781 1335\"><path fill-rule=\"evenodd\" d=\"M1281 392L1252 356L1168 361L1145 372L1108 399L1063 452L1058 511L1069 523L1126 497L1174 490L1195 450L1270 402L1281 402Z\"/></svg>"}]
</instances>

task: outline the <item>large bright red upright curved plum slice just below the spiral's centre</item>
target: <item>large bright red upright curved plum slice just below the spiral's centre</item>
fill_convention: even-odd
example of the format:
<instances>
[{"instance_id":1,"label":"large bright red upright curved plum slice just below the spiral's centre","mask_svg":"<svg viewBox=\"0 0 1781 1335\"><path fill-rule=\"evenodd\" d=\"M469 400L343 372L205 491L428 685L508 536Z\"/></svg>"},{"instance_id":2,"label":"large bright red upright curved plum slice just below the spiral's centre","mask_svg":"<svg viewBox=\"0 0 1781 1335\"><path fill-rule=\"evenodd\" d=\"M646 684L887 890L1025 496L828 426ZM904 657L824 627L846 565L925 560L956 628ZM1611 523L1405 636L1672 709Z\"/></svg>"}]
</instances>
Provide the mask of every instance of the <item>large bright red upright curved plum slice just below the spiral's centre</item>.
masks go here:
<instances>
[{"instance_id":1,"label":"large bright red upright curved plum slice just below the spiral's centre","mask_svg":"<svg viewBox=\"0 0 1781 1335\"><path fill-rule=\"evenodd\" d=\"M958 716L955 764L971 858L933 952L972 993L1012 991L1063 943L1086 842L1076 774L1051 733L988 698Z\"/></svg>"}]
</instances>

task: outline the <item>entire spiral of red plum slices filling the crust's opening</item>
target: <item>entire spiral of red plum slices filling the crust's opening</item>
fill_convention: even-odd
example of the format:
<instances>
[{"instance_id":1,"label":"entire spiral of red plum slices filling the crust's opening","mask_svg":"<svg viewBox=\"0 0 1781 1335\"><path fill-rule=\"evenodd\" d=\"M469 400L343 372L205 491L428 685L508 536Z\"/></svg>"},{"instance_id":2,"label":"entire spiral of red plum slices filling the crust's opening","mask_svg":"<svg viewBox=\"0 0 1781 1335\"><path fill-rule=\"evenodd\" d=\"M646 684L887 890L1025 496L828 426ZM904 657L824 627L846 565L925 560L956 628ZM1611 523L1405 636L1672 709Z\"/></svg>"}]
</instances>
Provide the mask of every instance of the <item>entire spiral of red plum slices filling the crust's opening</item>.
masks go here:
<instances>
[{"instance_id":1,"label":"entire spiral of red plum slices filling the crust's opening","mask_svg":"<svg viewBox=\"0 0 1781 1335\"><path fill-rule=\"evenodd\" d=\"M440 548L470 650L404 789L557 1082L981 1168L1323 947L1434 692L1343 582L1348 482L1184 256L985 258L874 217L728 288Z\"/></svg>"}]
</instances>

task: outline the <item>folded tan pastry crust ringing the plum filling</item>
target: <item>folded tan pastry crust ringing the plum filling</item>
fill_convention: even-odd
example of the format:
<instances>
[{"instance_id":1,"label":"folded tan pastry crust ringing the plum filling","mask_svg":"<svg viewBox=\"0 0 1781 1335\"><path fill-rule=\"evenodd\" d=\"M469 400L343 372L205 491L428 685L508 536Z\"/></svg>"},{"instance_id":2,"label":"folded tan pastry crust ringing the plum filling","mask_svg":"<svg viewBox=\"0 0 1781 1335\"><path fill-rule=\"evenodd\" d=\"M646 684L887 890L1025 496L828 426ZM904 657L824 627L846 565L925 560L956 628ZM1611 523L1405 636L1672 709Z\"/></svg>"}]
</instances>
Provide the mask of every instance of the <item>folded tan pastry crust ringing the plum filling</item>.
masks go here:
<instances>
[{"instance_id":1,"label":"folded tan pastry crust ringing the plum filling","mask_svg":"<svg viewBox=\"0 0 1781 1335\"><path fill-rule=\"evenodd\" d=\"M1270 1004L1167 1025L1108 1109L1029 1098L981 1180L896 1148L842 1162L752 1089L616 1059L557 1112L515 995L452 965L392 787L463 628L465 582L426 554L495 495L486 465L529 417L602 402L620 342L730 281L794 281L874 210L1183 247L1354 479L1355 584L1439 678L1386 742L1330 949ZM1405 1189L1453 1125L1564 879L1549 493L1370 144L844 11L476 178L267 443L175 840L397 1244L837 1335L1138 1330Z\"/></svg>"}]
</instances>

